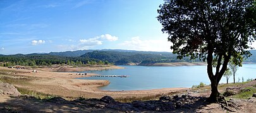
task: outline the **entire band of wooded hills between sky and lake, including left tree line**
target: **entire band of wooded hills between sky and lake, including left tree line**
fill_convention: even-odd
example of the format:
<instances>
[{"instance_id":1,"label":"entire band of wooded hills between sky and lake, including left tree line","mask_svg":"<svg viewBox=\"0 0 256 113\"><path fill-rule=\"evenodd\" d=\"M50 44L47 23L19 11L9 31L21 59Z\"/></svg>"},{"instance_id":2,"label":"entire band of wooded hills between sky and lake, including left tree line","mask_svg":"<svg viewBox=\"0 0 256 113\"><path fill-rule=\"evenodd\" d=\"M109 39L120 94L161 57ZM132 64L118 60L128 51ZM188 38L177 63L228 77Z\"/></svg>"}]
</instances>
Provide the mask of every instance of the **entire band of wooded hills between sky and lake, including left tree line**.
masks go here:
<instances>
[{"instance_id":1,"label":"entire band of wooded hills between sky and lake, including left tree line","mask_svg":"<svg viewBox=\"0 0 256 113\"><path fill-rule=\"evenodd\" d=\"M251 53L253 55L245 62L256 63L256 50L252 50ZM169 62L200 62L199 60L190 61L189 57L178 60L176 56L170 52L133 50L79 50L28 55L0 54L0 65L94 65L109 63L114 65L152 65L154 63Z\"/></svg>"}]
</instances>

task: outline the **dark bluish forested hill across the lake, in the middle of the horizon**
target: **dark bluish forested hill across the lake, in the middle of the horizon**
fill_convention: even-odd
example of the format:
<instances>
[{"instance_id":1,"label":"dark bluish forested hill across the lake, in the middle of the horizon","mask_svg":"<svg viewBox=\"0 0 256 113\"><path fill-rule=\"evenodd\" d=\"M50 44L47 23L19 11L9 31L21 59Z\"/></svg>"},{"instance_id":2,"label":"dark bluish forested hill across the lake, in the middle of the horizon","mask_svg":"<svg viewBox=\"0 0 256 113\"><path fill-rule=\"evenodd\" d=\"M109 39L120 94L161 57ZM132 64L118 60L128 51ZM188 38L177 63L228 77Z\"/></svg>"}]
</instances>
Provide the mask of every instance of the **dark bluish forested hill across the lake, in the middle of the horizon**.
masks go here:
<instances>
[{"instance_id":1,"label":"dark bluish forested hill across the lake, in the middle of the horizon","mask_svg":"<svg viewBox=\"0 0 256 113\"><path fill-rule=\"evenodd\" d=\"M115 65L128 65L129 63L147 65L149 63L190 62L189 58L184 58L183 60L176 59L176 55L173 53L152 51L92 51L85 53L81 57L108 61Z\"/></svg>"}]
</instances>

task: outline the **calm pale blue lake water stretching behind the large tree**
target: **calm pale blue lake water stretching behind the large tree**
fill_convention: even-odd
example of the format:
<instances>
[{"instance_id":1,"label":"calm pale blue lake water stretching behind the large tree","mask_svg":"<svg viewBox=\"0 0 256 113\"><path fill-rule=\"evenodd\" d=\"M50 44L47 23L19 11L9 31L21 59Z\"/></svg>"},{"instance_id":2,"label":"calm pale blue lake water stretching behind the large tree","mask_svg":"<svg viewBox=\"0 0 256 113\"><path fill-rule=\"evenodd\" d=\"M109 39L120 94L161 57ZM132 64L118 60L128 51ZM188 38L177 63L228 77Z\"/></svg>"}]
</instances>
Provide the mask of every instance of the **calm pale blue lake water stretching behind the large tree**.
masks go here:
<instances>
[{"instance_id":1,"label":"calm pale blue lake water stretching behind the large tree","mask_svg":"<svg viewBox=\"0 0 256 113\"><path fill-rule=\"evenodd\" d=\"M192 87L200 82L210 84L207 75L207 67L181 66L181 67L146 67L146 66L121 66L125 69L87 71L99 75L128 75L130 77L85 77L80 79L109 80L111 83L101 87L102 90L149 90L171 87ZM248 78L256 78L256 64L243 64L236 74L236 81L240 82ZM229 78L233 82L233 76ZM226 77L222 77L220 83L226 83Z\"/></svg>"}]
</instances>

